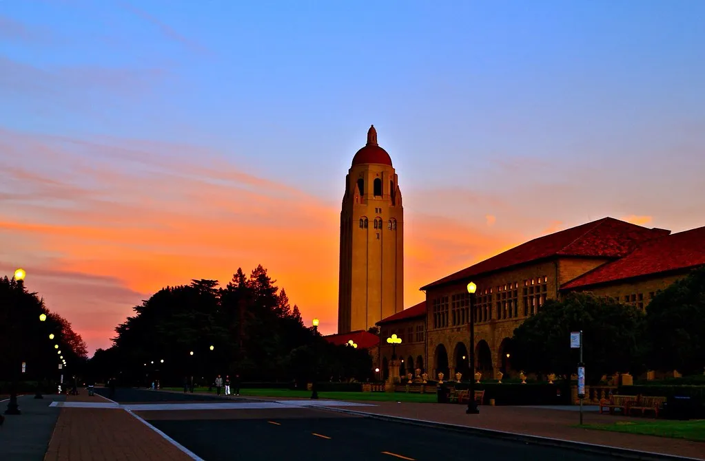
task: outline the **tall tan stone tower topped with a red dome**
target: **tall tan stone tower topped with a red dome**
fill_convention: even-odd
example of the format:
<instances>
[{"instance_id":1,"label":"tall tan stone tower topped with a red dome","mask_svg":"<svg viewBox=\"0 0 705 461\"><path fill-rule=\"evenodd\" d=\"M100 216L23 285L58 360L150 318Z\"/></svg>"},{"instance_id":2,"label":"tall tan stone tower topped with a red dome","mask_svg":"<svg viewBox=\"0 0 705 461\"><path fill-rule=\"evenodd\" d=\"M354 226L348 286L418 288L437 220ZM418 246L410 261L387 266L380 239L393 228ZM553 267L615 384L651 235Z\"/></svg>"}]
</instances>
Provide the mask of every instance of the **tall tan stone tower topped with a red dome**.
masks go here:
<instances>
[{"instance_id":1,"label":"tall tan stone tower topped with a red dome","mask_svg":"<svg viewBox=\"0 0 705 461\"><path fill-rule=\"evenodd\" d=\"M374 125L345 177L339 277L338 333L367 330L404 308L404 210Z\"/></svg>"}]
</instances>

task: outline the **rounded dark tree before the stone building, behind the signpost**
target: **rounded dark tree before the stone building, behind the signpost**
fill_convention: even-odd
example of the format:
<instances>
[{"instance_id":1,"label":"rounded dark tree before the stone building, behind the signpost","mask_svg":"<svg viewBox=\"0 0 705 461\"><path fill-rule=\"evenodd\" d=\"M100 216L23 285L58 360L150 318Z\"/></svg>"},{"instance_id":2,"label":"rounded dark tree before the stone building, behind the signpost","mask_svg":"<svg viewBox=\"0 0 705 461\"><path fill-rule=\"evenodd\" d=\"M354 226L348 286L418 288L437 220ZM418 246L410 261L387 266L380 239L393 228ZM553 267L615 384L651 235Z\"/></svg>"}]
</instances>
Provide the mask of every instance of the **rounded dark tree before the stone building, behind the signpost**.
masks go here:
<instances>
[{"instance_id":1,"label":"rounded dark tree before the stone building, behind the signpost","mask_svg":"<svg viewBox=\"0 0 705 461\"><path fill-rule=\"evenodd\" d=\"M547 301L537 315L514 330L513 362L526 372L556 373L563 379L577 371L579 355L570 348L570 332L583 331L583 361L591 384L603 375L641 372L644 315L631 305L568 293Z\"/></svg>"}]
</instances>

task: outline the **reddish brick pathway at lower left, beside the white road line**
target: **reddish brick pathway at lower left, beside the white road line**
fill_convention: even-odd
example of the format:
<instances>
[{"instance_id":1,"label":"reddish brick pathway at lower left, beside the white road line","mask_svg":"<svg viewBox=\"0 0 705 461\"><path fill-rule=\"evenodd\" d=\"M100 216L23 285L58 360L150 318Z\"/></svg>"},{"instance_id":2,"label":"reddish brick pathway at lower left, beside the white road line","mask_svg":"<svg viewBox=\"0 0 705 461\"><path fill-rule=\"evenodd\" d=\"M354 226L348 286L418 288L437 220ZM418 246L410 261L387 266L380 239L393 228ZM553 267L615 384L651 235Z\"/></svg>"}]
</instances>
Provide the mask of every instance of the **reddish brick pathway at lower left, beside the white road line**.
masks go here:
<instances>
[{"instance_id":1,"label":"reddish brick pathway at lower left, beside the white road line","mask_svg":"<svg viewBox=\"0 0 705 461\"><path fill-rule=\"evenodd\" d=\"M104 401L84 390L68 402ZM61 408L45 461L173 460L191 457L121 409Z\"/></svg>"}]
</instances>

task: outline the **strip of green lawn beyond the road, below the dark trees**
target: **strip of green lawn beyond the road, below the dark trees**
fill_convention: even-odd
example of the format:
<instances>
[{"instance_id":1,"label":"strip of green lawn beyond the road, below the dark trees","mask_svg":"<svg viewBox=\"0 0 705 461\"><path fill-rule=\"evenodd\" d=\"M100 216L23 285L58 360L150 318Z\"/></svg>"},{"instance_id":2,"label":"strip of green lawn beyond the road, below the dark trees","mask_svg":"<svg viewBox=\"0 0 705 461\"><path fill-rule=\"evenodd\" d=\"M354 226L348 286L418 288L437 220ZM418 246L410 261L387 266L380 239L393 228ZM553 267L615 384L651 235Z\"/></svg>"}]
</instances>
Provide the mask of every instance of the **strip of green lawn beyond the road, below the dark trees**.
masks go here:
<instances>
[{"instance_id":1,"label":"strip of green lawn beyond the road, below the dark trees","mask_svg":"<svg viewBox=\"0 0 705 461\"><path fill-rule=\"evenodd\" d=\"M166 391L183 391L183 388L166 387ZM207 387L197 387L196 392L208 392ZM212 389L212 394L216 393ZM302 397L310 398L311 391L290 391L289 389L240 389L240 396L250 397ZM375 402L415 402L436 403L436 393L405 393L405 392L321 392L319 398L328 400L370 400Z\"/></svg>"}]
</instances>

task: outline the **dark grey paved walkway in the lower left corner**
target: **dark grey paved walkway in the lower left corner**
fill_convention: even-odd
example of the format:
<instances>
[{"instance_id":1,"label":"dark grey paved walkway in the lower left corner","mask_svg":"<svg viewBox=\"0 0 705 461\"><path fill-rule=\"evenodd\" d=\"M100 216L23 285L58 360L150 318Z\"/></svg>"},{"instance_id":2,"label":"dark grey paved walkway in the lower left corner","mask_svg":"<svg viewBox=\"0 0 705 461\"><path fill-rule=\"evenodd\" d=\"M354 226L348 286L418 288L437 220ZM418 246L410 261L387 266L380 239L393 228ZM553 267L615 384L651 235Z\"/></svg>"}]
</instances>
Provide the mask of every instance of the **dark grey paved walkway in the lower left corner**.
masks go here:
<instances>
[{"instance_id":1,"label":"dark grey paved walkway in the lower left corner","mask_svg":"<svg viewBox=\"0 0 705 461\"><path fill-rule=\"evenodd\" d=\"M4 415L5 423L0 427L0 459L3 461L41 460L47 452L51 432L54 431L59 408L49 406L62 396L44 396L35 399L19 396L18 405L22 415ZM7 408L7 400L0 402L0 413Z\"/></svg>"}]
</instances>

